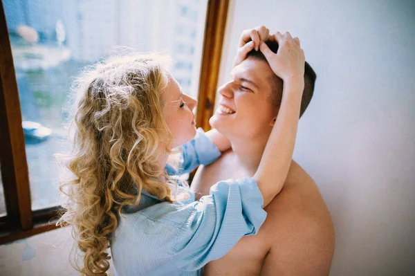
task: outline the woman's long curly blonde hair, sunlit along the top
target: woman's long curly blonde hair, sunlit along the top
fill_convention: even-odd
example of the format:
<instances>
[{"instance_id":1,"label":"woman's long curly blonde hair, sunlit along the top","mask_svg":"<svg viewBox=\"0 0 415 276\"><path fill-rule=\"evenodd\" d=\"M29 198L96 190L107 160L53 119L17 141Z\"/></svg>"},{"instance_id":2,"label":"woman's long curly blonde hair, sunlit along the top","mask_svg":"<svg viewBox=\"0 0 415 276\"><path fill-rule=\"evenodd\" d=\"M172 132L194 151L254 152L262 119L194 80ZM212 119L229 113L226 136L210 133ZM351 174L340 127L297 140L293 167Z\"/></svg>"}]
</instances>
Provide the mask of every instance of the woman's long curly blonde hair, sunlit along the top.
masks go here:
<instances>
[{"instance_id":1,"label":"woman's long curly blonde hair, sunlit along the top","mask_svg":"<svg viewBox=\"0 0 415 276\"><path fill-rule=\"evenodd\" d=\"M75 269L82 275L107 275L109 239L118 213L136 205L145 189L160 199L174 197L165 182L157 150L168 153L172 136L163 118L162 91L169 82L164 60L129 54L90 66L73 82L75 114L70 123L72 178L59 189L66 195L60 226L73 226ZM77 264L82 258L82 264Z\"/></svg>"}]
</instances>

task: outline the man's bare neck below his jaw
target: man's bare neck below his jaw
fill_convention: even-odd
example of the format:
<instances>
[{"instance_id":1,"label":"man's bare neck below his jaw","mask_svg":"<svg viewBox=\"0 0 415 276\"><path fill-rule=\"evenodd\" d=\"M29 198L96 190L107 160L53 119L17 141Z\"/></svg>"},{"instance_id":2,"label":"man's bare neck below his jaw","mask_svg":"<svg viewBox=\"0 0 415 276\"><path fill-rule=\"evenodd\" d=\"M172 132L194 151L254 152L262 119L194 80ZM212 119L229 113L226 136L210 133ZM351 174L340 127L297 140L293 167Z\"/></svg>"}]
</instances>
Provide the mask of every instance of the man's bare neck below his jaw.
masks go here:
<instances>
[{"instance_id":1,"label":"man's bare neck below his jaw","mask_svg":"<svg viewBox=\"0 0 415 276\"><path fill-rule=\"evenodd\" d=\"M257 172L267 140L262 138L247 140L247 138L230 138L232 151L237 156L239 165L250 176Z\"/></svg>"}]
</instances>

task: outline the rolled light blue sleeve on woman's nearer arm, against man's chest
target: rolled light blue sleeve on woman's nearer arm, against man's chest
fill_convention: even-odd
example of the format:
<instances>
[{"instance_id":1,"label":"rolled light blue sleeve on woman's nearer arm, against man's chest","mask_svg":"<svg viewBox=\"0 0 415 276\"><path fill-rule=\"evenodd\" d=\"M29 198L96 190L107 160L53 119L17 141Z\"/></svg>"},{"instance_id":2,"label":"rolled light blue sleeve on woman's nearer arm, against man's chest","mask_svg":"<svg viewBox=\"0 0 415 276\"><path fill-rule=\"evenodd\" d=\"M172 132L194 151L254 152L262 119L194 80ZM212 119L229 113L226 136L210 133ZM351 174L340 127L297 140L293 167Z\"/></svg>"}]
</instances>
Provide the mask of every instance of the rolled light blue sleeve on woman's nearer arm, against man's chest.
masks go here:
<instances>
[{"instance_id":1,"label":"rolled light blue sleeve on woman's nearer arm, against man's chest","mask_svg":"<svg viewBox=\"0 0 415 276\"><path fill-rule=\"evenodd\" d=\"M257 234L266 219L264 199L252 178L220 181L190 208L174 243L178 269L198 270L229 252L243 236Z\"/></svg>"}]
</instances>

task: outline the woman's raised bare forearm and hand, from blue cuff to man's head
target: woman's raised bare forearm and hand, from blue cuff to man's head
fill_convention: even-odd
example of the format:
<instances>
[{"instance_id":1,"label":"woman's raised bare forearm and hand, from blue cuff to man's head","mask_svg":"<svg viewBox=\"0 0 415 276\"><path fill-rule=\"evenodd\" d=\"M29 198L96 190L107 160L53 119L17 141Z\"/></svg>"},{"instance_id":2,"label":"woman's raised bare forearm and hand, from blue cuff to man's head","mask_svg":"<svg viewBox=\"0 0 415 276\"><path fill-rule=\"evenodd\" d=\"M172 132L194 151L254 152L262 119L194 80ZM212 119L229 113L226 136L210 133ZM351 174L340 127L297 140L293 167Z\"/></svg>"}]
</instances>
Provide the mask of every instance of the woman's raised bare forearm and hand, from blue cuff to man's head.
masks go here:
<instances>
[{"instance_id":1,"label":"woman's raised bare forearm and hand, from blue cuff to man's head","mask_svg":"<svg viewBox=\"0 0 415 276\"><path fill-rule=\"evenodd\" d=\"M286 180L293 157L304 90L305 58L298 38L293 39L289 33L282 35L277 32L275 39L279 44L277 54L264 42L260 46L271 69L284 82L282 104L257 172L253 176L264 196L264 207L282 190Z\"/></svg>"}]
</instances>

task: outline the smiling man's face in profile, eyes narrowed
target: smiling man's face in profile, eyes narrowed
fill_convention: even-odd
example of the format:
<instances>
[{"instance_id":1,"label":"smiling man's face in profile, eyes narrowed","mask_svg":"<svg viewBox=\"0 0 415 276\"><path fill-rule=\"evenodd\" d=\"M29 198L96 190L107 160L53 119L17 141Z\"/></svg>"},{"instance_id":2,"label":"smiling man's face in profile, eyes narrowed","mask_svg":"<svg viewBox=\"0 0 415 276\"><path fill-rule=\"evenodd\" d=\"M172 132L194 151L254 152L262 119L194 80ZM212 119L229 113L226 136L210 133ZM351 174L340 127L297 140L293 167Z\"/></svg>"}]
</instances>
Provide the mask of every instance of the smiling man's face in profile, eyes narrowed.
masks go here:
<instances>
[{"instance_id":1,"label":"smiling man's face in profile, eyes narrowed","mask_svg":"<svg viewBox=\"0 0 415 276\"><path fill-rule=\"evenodd\" d=\"M281 90L273 87L275 74L268 62L249 57L232 69L231 77L219 87L219 108L210 125L228 138L268 138L278 112L270 95Z\"/></svg>"}]
</instances>

